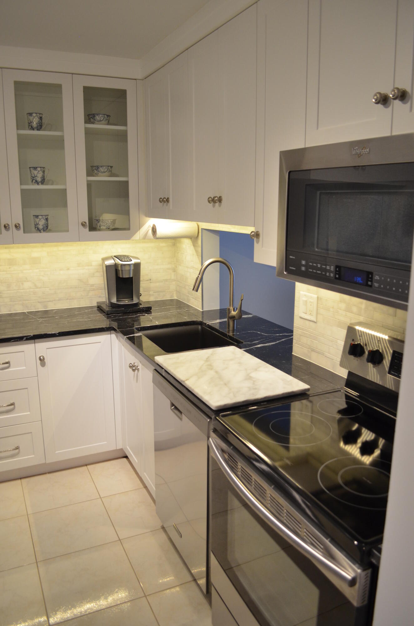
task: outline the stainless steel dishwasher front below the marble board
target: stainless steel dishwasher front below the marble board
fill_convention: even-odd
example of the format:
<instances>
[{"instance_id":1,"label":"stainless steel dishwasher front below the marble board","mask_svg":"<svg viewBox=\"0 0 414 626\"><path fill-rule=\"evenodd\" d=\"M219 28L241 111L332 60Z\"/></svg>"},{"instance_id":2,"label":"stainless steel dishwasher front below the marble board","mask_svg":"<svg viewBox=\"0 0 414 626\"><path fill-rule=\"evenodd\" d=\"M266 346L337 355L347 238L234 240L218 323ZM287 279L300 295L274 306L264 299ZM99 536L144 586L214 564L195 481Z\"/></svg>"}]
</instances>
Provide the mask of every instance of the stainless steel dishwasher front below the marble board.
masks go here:
<instances>
[{"instance_id":1,"label":"stainless steel dishwasher front below the marble board","mask_svg":"<svg viewBox=\"0 0 414 626\"><path fill-rule=\"evenodd\" d=\"M208 593L211 419L157 371L153 383L156 512L199 586Z\"/></svg>"}]
</instances>

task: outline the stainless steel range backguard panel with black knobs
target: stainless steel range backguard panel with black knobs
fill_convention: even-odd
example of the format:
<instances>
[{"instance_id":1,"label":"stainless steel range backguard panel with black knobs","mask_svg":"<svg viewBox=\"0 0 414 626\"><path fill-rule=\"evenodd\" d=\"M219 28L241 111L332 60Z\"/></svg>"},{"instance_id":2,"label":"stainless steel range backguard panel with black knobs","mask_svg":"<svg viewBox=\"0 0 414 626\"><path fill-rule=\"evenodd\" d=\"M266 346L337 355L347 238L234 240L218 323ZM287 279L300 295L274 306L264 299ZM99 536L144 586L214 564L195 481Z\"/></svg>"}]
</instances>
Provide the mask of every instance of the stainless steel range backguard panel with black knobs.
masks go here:
<instances>
[{"instance_id":1,"label":"stainless steel range backguard panel with black knobs","mask_svg":"<svg viewBox=\"0 0 414 626\"><path fill-rule=\"evenodd\" d=\"M340 366L398 392L404 342L374 324L354 322L346 330Z\"/></svg>"}]
</instances>

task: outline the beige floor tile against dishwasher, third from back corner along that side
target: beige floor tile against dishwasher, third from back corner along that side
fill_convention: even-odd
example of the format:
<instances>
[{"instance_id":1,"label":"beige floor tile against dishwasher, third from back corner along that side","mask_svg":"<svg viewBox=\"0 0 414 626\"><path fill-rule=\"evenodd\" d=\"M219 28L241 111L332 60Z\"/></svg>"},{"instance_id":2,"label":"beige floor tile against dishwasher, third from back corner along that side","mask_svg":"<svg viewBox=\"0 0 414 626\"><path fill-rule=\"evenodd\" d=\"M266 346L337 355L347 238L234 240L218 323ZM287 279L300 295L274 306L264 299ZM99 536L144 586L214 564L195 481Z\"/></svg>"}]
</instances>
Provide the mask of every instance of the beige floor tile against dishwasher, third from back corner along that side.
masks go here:
<instances>
[{"instance_id":1,"label":"beige floor tile against dishwasher, third from back corner along that side","mask_svg":"<svg viewBox=\"0 0 414 626\"><path fill-rule=\"evenodd\" d=\"M129 537L122 543L147 595L192 580L163 530Z\"/></svg>"}]
</instances>

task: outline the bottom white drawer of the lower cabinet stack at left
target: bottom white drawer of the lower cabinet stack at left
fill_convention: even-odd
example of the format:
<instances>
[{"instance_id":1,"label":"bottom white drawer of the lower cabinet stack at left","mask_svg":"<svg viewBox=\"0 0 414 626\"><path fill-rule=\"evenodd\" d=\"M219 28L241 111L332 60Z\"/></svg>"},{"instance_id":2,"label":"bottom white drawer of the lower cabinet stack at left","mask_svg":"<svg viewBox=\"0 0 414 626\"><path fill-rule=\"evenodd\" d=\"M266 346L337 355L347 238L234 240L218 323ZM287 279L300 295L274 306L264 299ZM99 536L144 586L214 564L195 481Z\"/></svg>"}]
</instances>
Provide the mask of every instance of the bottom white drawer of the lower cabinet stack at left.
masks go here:
<instances>
[{"instance_id":1,"label":"bottom white drawer of the lower cabinet stack at left","mask_svg":"<svg viewBox=\"0 0 414 626\"><path fill-rule=\"evenodd\" d=\"M0 428L0 471L44 463L41 422Z\"/></svg>"}]
</instances>

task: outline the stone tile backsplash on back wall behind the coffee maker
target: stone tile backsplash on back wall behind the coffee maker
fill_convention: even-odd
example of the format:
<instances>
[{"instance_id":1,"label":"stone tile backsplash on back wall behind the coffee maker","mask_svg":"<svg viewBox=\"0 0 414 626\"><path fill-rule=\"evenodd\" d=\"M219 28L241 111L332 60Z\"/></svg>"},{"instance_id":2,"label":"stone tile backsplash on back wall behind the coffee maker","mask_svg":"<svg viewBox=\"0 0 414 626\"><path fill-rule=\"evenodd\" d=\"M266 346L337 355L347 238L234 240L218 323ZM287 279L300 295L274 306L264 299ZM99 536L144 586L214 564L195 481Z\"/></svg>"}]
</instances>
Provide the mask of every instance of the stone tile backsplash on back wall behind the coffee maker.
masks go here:
<instances>
[{"instance_id":1,"label":"stone tile backsplash on back wall behind the coffee maker","mask_svg":"<svg viewBox=\"0 0 414 626\"><path fill-rule=\"evenodd\" d=\"M104 299L101 258L117 252L141 259L143 300L176 297L174 239L2 245L0 313L96 304Z\"/></svg>"}]
</instances>

